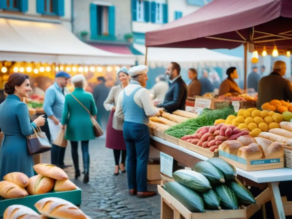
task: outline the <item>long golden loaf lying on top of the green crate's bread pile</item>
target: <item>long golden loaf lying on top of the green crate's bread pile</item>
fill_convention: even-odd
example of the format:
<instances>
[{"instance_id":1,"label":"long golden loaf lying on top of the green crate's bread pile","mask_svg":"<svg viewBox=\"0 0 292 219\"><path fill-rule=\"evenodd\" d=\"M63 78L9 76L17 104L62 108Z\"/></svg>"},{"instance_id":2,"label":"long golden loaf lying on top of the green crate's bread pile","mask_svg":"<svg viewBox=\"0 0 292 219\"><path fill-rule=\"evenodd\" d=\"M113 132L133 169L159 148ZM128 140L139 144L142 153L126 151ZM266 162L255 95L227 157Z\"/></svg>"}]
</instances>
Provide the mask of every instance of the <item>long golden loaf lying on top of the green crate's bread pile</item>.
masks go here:
<instances>
[{"instance_id":1,"label":"long golden loaf lying on top of the green crate's bread pile","mask_svg":"<svg viewBox=\"0 0 292 219\"><path fill-rule=\"evenodd\" d=\"M36 173L55 180L67 180L68 175L61 168L53 164L36 164L33 166Z\"/></svg>"}]
</instances>

